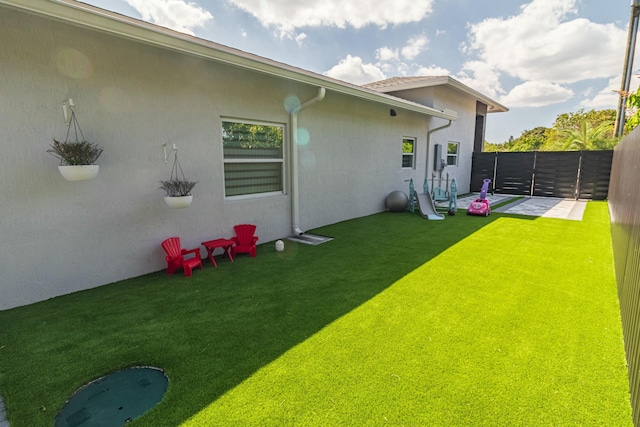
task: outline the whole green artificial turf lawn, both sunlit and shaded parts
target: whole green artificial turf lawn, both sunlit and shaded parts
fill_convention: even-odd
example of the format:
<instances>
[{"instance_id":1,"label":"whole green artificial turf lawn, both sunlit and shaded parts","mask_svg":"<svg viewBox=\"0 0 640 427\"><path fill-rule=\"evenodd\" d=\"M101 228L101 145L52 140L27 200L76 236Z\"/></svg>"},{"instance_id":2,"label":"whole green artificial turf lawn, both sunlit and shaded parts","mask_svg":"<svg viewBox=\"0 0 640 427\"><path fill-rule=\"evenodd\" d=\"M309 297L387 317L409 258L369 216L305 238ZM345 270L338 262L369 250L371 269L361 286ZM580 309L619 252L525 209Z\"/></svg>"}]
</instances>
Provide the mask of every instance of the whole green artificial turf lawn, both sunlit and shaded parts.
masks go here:
<instances>
[{"instance_id":1,"label":"whole green artificial turf lawn, both sunlit and shaded parts","mask_svg":"<svg viewBox=\"0 0 640 427\"><path fill-rule=\"evenodd\" d=\"M0 312L11 426L136 365L169 389L135 426L633 425L606 203L314 232Z\"/></svg>"}]
</instances>

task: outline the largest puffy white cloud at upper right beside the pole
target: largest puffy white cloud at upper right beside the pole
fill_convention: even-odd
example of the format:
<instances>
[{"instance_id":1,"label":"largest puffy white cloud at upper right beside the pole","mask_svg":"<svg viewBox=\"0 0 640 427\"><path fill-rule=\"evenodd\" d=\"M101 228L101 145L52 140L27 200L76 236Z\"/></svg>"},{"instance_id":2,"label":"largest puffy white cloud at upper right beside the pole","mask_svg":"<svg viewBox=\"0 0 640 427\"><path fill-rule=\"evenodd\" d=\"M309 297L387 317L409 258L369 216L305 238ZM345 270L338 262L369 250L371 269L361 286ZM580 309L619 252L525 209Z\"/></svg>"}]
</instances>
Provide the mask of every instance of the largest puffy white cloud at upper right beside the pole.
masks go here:
<instances>
[{"instance_id":1,"label":"largest puffy white cloud at upper right beside the pole","mask_svg":"<svg viewBox=\"0 0 640 427\"><path fill-rule=\"evenodd\" d=\"M533 0L517 16L469 28L466 51L525 81L573 83L620 72L626 30L586 19L568 20L577 0Z\"/></svg>"}]
</instances>

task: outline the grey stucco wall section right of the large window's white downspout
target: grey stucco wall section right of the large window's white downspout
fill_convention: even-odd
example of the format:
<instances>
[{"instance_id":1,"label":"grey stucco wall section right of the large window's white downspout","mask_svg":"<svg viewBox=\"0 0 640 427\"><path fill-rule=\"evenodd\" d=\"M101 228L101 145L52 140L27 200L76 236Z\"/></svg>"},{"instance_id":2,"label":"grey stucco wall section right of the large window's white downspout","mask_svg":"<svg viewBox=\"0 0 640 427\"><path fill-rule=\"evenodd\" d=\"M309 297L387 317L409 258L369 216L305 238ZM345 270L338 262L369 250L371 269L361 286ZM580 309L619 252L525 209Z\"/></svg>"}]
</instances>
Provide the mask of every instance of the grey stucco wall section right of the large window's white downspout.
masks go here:
<instances>
[{"instance_id":1,"label":"grey stucco wall section right of the large window's white downspout","mask_svg":"<svg viewBox=\"0 0 640 427\"><path fill-rule=\"evenodd\" d=\"M385 210L394 190L408 193L411 178L424 179L426 134L431 119L329 92L303 110L299 146L300 213L303 230ZM402 168L402 139L416 138L416 165Z\"/></svg>"}]
</instances>

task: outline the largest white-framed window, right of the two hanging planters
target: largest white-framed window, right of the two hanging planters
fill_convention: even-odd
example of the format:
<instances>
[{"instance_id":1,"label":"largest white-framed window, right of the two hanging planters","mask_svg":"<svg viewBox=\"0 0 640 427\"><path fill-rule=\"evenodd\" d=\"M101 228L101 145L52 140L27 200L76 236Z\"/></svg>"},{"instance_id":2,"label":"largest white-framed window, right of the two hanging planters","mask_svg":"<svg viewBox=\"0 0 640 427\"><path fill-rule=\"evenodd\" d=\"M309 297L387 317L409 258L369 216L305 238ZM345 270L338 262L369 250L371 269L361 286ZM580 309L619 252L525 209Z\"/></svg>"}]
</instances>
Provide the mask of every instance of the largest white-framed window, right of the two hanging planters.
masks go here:
<instances>
[{"instance_id":1,"label":"largest white-framed window, right of the two hanging planters","mask_svg":"<svg viewBox=\"0 0 640 427\"><path fill-rule=\"evenodd\" d=\"M225 197L284 193L284 125L222 121Z\"/></svg>"}]
</instances>

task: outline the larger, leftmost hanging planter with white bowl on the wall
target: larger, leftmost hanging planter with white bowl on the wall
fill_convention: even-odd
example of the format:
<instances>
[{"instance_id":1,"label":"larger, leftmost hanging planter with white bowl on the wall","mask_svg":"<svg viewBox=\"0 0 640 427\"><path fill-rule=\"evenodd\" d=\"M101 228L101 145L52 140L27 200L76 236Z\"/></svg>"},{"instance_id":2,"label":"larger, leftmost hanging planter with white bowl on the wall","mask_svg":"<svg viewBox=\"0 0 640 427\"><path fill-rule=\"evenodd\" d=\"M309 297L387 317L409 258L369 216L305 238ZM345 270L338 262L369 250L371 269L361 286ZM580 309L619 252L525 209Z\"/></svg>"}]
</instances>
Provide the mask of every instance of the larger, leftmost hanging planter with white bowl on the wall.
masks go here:
<instances>
[{"instance_id":1,"label":"larger, leftmost hanging planter with white bowl on the wall","mask_svg":"<svg viewBox=\"0 0 640 427\"><path fill-rule=\"evenodd\" d=\"M53 144L47 150L48 153L60 160L58 170L67 181L85 181L93 179L98 174L100 168L95 162L102 154L102 148L84 139L82 129L76 118L76 113L71 109L72 103L66 108L71 111L71 118L68 123L67 136L64 141L54 138ZM65 110L66 111L66 110ZM75 139L69 140L69 133L73 126ZM78 133L80 139L78 139Z\"/></svg>"}]
</instances>

